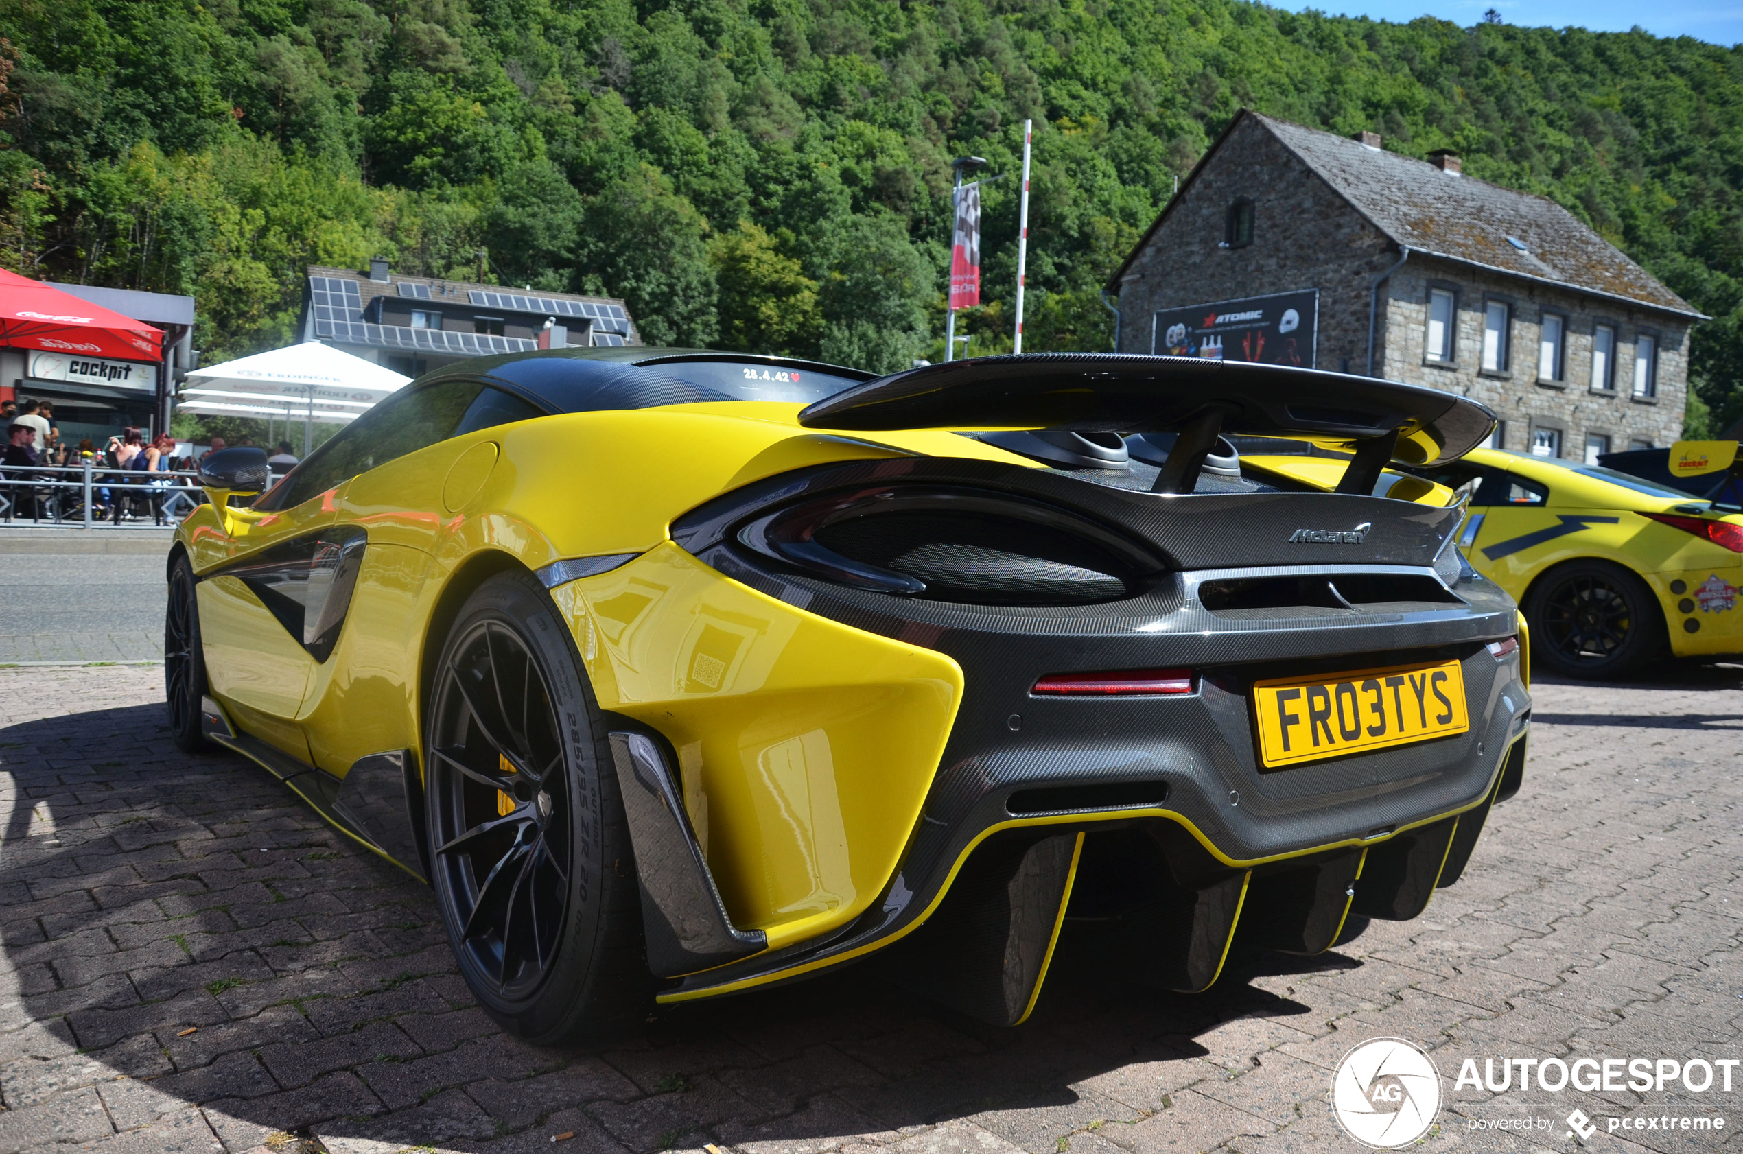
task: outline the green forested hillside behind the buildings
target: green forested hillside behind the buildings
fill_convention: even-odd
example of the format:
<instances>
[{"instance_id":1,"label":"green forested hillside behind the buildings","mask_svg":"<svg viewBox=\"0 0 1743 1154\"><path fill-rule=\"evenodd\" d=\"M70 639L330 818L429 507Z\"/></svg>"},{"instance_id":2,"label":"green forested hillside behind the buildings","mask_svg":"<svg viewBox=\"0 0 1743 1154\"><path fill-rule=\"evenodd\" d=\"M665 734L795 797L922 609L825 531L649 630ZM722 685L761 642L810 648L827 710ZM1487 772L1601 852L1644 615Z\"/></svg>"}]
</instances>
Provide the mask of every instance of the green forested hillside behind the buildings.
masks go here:
<instances>
[{"instance_id":1,"label":"green forested hillside behind the buildings","mask_svg":"<svg viewBox=\"0 0 1743 1154\"><path fill-rule=\"evenodd\" d=\"M1107 347L1102 277L1248 105L1567 204L1715 317L1743 417L1740 49L1241 0L0 0L0 263L193 293L207 357L373 255L624 296L648 342L939 356L950 157L1013 171L1023 117L1028 347Z\"/></svg>"}]
</instances>

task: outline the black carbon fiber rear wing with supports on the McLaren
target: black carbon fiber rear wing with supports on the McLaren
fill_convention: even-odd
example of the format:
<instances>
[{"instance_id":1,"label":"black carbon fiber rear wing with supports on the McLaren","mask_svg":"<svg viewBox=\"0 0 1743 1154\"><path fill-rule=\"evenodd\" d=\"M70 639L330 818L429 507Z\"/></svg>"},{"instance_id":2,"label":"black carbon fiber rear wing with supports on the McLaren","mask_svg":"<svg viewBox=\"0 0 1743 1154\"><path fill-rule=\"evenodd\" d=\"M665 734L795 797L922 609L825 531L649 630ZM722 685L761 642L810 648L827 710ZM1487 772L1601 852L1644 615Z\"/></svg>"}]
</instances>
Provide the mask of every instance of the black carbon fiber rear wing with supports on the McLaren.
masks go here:
<instances>
[{"instance_id":1,"label":"black carbon fiber rear wing with supports on the McLaren","mask_svg":"<svg viewBox=\"0 0 1743 1154\"><path fill-rule=\"evenodd\" d=\"M1393 460L1438 465L1482 445L1495 415L1469 397L1372 377L1245 361L1042 352L929 364L807 406L809 429L1178 432L1156 492L1190 493L1218 434L1354 441L1340 493L1370 493Z\"/></svg>"}]
</instances>

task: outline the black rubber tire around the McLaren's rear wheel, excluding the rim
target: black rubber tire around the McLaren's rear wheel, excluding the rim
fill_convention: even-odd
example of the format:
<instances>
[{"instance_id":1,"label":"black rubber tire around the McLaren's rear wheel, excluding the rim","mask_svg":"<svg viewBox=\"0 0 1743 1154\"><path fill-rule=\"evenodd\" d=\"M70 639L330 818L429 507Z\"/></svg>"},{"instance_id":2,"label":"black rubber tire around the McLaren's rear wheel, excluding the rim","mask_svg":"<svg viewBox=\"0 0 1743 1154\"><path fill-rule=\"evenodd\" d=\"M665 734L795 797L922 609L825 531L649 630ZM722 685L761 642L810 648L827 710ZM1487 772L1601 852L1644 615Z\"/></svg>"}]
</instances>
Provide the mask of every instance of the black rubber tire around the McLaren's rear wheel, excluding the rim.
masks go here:
<instances>
[{"instance_id":1,"label":"black rubber tire around the McLaren's rear wheel, excluding the rim","mask_svg":"<svg viewBox=\"0 0 1743 1154\"><path fill-rule=\"evenodd\" d=\"M519 574L498 574L486 579L462 605L453 629L443 645L436 666L437 682L431 687L431 708L424 718L424 748L434 748L437 739L436 716L444 690L441 680L460 645L486 622L512 629L539 664L546 692L556 711L563 741L563 762L568 774L570 805L570 861L566 863L568 908L563 915L563 933L558 940L556 962L546 981L521 999L504 997L471 959L458 938L458 926L450 917L455 908L446 868L436 861L434 842L443 828L437 805L443 788L425 788L425 823L431 830L431 882L443 910L443 927L453 947L460 973L485 1013L526 1041L560 1037L573 1032L577 1018L591 1001L591 987L600 974L600 947L603 945L605 915L605 838L607 805L617 804L615 779L605 781L601 762L603 734L598 709L580 668L580 655L556 607L542 586ZM425 758L425 765L432 762ZM446 770L451 772L451 770Z\"/></svg>"}]
</instances>

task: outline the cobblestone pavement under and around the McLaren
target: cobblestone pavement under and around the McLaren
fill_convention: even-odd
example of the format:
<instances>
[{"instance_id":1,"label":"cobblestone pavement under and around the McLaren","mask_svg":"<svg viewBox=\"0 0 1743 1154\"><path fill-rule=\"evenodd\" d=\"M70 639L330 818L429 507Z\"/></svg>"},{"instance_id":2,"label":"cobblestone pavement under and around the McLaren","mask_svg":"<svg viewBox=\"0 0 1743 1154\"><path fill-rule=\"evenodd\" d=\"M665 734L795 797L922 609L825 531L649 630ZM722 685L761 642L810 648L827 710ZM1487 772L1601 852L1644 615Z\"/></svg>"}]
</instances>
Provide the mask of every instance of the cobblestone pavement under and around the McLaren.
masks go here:
<instances>
[{"instance_id":1,"label":"cobblestone pavement under and around the McLaren","mask_svg":"<svg viewBox=\"0 0 1743 1154\"><path fill-rule=\"evenodd\" d=\"M1743 1056L1736 668L1541 685L1525 788L1464 880L1319 959L1178 997L1110 981L1068 926L1020 1030L863 966L661 1009L598 1053L502 1035L427 891L261 770L178 755L159 676L0 671L0 1154L511 1154L563 1135L587 1154L1353 1151L1330 1070L1379 1035L1441 1070L1429 1151L1572 1149L1576 1105L1600 1123L1591 1149L1743 1149L1743 1093L1454 1090L1466 1056ZM1544 1102L1553 1131L1471 1130ZM1640 1145L1602 1128L1687 1103L1729 1126L1630 1131Z\"/></svg>"}]
</instances>

